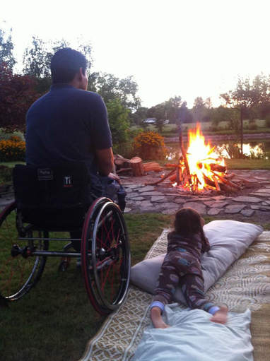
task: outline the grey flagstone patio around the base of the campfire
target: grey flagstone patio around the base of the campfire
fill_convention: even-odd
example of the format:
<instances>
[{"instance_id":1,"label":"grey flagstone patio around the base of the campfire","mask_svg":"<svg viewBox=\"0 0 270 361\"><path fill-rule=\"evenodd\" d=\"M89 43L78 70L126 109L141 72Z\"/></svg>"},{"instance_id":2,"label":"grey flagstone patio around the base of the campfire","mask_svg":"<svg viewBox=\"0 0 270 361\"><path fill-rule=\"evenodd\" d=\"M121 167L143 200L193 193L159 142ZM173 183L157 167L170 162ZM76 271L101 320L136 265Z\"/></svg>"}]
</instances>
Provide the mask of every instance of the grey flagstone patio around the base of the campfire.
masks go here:
<instances>
[{"instance_id":1,"label":"grey flagstone patio around the base of the campfire","mask_svg":"<svg viewBox=\"0 0 270 361\"><path fill-rule=\"evenodd\" d=\"M127 191L125 213L163 213L174 214L182 207L192 207L201 215L240 214L247 218L253 215L269 217L270 222L270 171L269 170L234 170L235 184L242 186L242 191L222 192L205 191L201 194L187 194L180 188L171 187L170 181L155 186L144 185L156 182L160 173L148 174L147 177L122 177L122 184Z\"/></svg>"}]
</instances>

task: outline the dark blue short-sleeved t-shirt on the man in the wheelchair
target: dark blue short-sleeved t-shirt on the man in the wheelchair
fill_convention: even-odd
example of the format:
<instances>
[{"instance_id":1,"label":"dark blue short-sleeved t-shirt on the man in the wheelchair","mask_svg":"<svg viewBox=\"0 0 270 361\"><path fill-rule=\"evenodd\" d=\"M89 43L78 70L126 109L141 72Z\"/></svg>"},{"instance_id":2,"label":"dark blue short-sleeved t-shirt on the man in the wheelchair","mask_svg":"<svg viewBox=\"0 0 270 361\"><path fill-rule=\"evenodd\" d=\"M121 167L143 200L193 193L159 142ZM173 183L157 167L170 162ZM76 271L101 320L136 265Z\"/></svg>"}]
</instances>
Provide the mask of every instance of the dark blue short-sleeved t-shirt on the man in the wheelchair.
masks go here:
<instances>
[{"instance_id":1,"label":"dark blue short-sleeved t-shirt on the man in the wheelchair","mask_svg":"<svg viewBox=\"0 0 270 361\"><path fill-rule=\"evenodd\" d=\"M69 84L54 84L28 110L27 164L82 160L92 174L91 183L95 184L99 182L95 150L111 147L107 109L97 93Z\"/></svg>"}]
</instances>

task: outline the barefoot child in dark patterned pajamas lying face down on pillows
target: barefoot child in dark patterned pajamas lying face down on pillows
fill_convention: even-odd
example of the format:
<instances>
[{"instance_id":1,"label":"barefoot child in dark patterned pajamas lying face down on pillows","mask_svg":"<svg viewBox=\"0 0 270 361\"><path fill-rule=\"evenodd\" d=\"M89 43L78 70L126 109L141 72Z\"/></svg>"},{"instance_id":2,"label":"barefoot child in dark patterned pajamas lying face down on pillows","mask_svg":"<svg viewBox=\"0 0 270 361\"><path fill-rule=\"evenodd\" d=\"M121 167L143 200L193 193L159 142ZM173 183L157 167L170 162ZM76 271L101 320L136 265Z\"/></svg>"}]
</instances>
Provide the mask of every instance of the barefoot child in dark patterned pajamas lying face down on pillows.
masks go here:
<instances>
[{"instance_id":1,"label":"barefoot child in dark patterned pajamas lying face down on pillows","mask_svg":"<svg viewBox=\"0 0 270 361\"><path fill-rule=\"evenodd\" d=\"M172 300L180 285L187 305L204 309L213 315L211 321L225 324L227 307L216 307L204 297L204 278L201 271L201 252L209 251L210 244L204 235L204 219L192 208L182 208L175 214L175 229L168 234L168 253L165 256L155 297L151 304L151 321L156 329L166 329L163 322L165 304Z\"/></svg>"}]
</instances>

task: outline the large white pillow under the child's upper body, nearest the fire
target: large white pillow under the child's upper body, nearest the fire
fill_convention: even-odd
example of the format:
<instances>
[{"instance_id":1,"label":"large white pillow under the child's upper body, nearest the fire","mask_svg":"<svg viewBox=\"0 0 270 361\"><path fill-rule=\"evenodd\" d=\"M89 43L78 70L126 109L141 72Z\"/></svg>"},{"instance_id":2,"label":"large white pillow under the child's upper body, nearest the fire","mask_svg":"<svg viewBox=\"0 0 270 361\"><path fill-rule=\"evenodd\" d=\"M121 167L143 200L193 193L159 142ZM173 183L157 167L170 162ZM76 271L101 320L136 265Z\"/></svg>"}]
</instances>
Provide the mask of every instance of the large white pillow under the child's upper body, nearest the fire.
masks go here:
<instances>
[{"instance_id":1,"label":"large white pillow under the child's upper body, nearest the fire","mask_svg":"<svg viewBox=\"0 0 270 361\"><path fill-rule=\"evenodd\" d=\"M204 290L206 291L245 252L254 239L263 232L263 228L259 225L235 220L213 220L204 226L204 232L211 245L211 250L201 255ZM131 283L154 294L164 257L165 254L161 254L133 266ZM180 287L175 291L173 300L185 304Z\"/></svg>"}]
</instances>

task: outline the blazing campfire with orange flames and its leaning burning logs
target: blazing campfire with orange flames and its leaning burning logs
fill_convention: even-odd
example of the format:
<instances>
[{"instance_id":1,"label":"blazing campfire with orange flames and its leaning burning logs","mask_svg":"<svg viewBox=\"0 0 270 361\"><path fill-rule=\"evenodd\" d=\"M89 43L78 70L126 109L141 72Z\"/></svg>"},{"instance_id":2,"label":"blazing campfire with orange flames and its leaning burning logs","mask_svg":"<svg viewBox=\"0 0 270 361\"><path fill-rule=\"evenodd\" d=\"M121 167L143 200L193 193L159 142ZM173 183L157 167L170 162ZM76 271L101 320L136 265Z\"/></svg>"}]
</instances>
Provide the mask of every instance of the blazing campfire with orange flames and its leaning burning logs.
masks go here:
<instances>
[{"instance_id":1,"label":"blazing campfire with orange flames and its leaning burning logs","mask_svg":"<svg viewBox=\"0 0 270 361\"><path fill-rule=\"evenodd\" d=\"M174 170L160 181L151 183L152 185L169 178L173 182L173 187L192 193L207 190L229 191L231 188L242 189L231 181L235 174L228 174L223 158L215 152L216 147L205 143L199 124L197 124L196 130L189 130L188 138L189 144L186 151L183 146L182 133L180 133L182 154L179 162L165 164L165 168L173 167Z\"/></svg>"}]
</instances>

